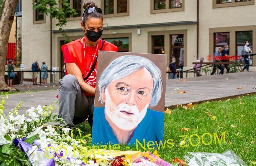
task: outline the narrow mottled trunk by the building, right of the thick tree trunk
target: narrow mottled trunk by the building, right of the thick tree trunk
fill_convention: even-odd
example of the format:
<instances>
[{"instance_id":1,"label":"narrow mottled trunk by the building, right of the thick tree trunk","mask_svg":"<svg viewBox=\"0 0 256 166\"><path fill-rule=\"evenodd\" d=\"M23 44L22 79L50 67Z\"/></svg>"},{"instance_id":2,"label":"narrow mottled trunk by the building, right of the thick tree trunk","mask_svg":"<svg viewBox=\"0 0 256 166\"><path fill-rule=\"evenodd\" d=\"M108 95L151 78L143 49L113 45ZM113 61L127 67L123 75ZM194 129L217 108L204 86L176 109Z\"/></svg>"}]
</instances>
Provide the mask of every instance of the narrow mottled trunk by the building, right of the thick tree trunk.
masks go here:
<instances>
[{"instance_id":1,"label":"narrow mottled trunk by the building, right of the thick tree trunk","mask_svg":"<svg viewBox=\"0 0 256 166\"><path fill-rule=\"evenodd\" d=\"M21 17L17 17L16 26L16 67L20 67L21 64Z\"/></svg>"}]
</instances>

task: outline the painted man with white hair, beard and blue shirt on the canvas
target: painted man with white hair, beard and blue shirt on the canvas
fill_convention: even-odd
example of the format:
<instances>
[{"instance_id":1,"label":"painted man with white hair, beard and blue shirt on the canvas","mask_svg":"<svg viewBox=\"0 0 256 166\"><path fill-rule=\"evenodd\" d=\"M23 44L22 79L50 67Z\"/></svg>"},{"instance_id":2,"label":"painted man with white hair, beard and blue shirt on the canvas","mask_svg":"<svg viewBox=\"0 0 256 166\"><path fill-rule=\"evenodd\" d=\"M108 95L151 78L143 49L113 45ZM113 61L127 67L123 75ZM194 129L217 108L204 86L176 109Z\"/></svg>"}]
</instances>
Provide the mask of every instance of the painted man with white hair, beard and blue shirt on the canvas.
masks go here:
<instances>
[{"instance_id":1,"label":"painted man with white hair, beard and blue shirt on the canvas","mask_svg":"<svg viewBox=\"0 0 256 166\"><path fill-rule=\"evenodd\" d=\"M152 61L135 55L118 57L100 75L98 88L105 107L94 108L93 143L163 139L164 113L149 109L163 92L161 71Z\"/></svg>"}]
</instances>

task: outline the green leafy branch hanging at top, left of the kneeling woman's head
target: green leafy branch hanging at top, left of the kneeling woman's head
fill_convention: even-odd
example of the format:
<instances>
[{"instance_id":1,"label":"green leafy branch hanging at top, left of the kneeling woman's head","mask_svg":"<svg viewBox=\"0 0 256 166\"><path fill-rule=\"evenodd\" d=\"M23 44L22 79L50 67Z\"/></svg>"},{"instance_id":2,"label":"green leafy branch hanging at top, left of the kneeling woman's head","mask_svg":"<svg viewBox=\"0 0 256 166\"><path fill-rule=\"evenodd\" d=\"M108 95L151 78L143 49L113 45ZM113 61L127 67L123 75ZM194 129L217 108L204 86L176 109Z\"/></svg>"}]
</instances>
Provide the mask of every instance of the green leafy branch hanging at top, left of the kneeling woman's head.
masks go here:
<instances>
[{"instance_id":1,"label":"green leafy branch hanging at top, left of the kneeling woman's head","mask_svg":"<svg viewBox=\"0 0 256 166\"><path fill-rule=\"evenodd\" d=\"M68 14L70 17L74 17L78 13L70 7L68 0L59 0L58 3L61 4L61 7L59 7L56 0L32 0L33 9L38 10L39 13L50 14L51 19L57 19L56 26L60 27L59 31L64 32L63 26L68 22L65 15ZM67 37L65 43L71 41L66 33L62 33L62 35Z\"/></svg>"}]
</instances>

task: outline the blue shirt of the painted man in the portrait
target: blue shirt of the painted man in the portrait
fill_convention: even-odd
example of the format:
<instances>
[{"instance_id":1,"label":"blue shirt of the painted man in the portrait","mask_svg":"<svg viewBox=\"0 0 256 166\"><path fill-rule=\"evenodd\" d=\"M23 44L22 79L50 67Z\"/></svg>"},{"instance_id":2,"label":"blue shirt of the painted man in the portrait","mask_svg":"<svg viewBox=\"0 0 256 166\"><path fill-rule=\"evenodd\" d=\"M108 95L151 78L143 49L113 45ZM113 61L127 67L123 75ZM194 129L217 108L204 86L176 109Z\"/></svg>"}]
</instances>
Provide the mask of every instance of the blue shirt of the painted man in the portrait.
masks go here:
<instances>
[{"instance_id":1,"label":"blue shirt of the painted man in the portrait","mask_svg":"<svg viewBox=\"0 0 256 166\"><path fill-rule=\"evenodd\" d=\"M104 110L105 107L94 107L92 143L108 144L110 141L112 144L119 144L111 127L105 119ZM145 117L134 130L127 145L135 144L136 139L140 141L141 144L143 143L143 139L145 139L145 142L159 142L160 140L163 140L163 119L163 112L148 109Z\"/></svg>"}]
</instances>

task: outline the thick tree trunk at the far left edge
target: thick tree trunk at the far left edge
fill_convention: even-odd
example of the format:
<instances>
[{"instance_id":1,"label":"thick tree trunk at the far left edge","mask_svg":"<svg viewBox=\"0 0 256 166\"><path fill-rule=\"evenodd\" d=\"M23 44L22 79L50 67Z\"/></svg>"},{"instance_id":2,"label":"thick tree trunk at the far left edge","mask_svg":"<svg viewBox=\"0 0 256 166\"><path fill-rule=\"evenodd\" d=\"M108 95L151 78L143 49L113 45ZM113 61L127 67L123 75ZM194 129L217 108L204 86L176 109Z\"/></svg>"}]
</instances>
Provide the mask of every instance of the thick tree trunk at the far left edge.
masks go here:
<instances>
[{"instance_id":1,"label":"thick tree trunk at the far left edge","mask_svg":"<svg viewBox=\"0 0 256 166\"><path fill-rule=\"evenodd\" d=\"M0 91L7 88L5 83L6 52L17 3L18 0L4 0L0 10Z\"/></svg>"}]
</instances>

